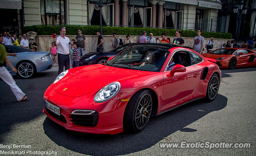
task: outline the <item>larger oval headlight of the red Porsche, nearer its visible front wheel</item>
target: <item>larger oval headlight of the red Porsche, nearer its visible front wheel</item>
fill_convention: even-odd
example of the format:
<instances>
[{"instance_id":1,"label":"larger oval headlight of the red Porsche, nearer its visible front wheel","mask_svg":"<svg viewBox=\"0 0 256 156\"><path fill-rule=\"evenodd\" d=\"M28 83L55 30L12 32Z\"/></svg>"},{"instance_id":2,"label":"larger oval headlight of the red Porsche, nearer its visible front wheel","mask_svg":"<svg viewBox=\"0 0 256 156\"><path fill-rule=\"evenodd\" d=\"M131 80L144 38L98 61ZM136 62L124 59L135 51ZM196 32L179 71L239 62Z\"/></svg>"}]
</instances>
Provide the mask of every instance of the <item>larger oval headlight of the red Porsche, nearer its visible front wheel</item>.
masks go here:
<instances>
[{"instance_id":1,"label":"larger oval headlight of the red Porsche, nearer its visible front wheel","mask_svg":"<svg viewBox=\"0 0 256 156\"><path fill-rule=\"evenodd\" d=\"M94 97L94 102L102 103L108 101L120 91L120 88L121 84L119 82L113 82L106 85L96 93Z\"/></svg>"}]
</instances>

